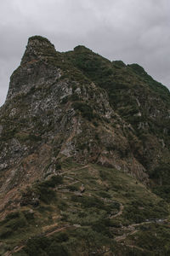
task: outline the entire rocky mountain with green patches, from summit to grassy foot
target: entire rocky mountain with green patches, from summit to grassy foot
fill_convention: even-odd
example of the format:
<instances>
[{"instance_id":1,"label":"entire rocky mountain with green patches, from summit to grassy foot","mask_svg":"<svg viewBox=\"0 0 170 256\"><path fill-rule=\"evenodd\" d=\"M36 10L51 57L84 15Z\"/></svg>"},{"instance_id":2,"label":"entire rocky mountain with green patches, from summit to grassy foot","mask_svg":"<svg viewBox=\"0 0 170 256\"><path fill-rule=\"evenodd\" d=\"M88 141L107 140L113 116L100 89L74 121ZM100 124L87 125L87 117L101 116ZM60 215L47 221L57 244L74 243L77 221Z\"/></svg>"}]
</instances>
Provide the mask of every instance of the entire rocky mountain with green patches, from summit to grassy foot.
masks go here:
<instances>
[{"instance_id":1,"label":"entire rocky mountain with green patches, from summit to grassy foot","mask_svg":"<svg viewBox=\"0 0 170 256\"><path fill-rule=\"evenodd\" d=\"M28 40L0 108L1 255L168 255L170 93Z\"/></svg>"}]
</instances>

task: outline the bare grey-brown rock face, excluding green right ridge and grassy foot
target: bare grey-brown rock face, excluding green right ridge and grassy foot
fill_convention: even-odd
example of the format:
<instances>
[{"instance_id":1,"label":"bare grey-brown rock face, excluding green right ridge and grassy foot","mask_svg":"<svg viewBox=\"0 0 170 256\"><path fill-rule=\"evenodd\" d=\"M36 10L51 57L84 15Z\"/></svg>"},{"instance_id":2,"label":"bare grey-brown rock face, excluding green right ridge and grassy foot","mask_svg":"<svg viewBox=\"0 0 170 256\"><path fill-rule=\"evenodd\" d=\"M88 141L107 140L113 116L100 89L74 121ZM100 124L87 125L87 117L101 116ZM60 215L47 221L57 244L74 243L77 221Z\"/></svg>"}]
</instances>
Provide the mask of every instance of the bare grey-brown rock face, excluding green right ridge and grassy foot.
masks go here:
<instances>
[{"instance_id":1,"label":"bare grey-brown rock face, excluding green right ridge and grassy foot","mask_svg":"<svg viewBox=\"0 0 170 256\"><path fill-rule=\"evenodd\" d=\"M56 166L65 158L111 166L148 183L146 167L156 166L162 155L165 161L169 157L162 138L146 134L146 140L139 139L135 126L111 107L108 91L72 63L71 56L56 52L48 39L29 39L0 112L1 192L17 191L57 172ZM136 95L135 101L139 107L144 105L143 96ZM144 114L141 108L135 113L138 118ZM159 109L150 109L150 118L159 119ZM168 119L167 113L163 118ZM147 125L147 120L140 121L138 129ZM5 203L13 196L8 193ZM1 201L2 207L5 203Z\"/></svg>"}]
</instances>

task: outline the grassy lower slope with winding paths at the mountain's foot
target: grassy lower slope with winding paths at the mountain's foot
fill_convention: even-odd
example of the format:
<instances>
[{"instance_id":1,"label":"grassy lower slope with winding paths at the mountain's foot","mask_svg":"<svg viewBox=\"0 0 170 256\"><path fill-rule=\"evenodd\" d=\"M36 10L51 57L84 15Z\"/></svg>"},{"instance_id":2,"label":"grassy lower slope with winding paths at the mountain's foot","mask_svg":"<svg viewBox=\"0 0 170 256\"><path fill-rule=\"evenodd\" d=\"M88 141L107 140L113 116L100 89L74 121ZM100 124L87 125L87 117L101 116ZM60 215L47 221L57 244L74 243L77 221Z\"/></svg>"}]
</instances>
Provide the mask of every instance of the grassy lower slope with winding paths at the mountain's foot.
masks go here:
<instances>
[{"instance_id":1,"label":"grassy lower slope with winding paths at the mountain's foot","mask_svg":"<svg viewBox=\"0 0 170 256\"><path fill-rule=\"evenodd\" d=\"M59 177L31 190L39 205L22 206L1 222L2 255L7 250L14 255L169 252L167 203L126 173L67 160Z\"/></svg>"}]
</instances>

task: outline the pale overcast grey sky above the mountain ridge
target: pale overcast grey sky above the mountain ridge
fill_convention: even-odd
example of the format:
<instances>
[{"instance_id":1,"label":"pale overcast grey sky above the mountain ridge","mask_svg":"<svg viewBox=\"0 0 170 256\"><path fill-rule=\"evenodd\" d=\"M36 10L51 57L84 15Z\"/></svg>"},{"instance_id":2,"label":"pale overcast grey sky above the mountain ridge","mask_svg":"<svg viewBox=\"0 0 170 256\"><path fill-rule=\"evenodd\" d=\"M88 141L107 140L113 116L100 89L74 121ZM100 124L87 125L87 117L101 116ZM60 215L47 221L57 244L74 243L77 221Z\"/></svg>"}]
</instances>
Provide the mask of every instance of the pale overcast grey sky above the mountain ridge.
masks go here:
<instances>
[{"instance_id":1,"label":"pale overcast grey sky above the mountain ridge","mask_svg":"<svg viewBox=\"0 0 170 256\"><path fill-rule=\"evenodd\" d=\"M170 89L169 0L0 0L0 106L27 40L55 49L85 45L111 61L138 63Z\"/></svg>"}]
</instances>

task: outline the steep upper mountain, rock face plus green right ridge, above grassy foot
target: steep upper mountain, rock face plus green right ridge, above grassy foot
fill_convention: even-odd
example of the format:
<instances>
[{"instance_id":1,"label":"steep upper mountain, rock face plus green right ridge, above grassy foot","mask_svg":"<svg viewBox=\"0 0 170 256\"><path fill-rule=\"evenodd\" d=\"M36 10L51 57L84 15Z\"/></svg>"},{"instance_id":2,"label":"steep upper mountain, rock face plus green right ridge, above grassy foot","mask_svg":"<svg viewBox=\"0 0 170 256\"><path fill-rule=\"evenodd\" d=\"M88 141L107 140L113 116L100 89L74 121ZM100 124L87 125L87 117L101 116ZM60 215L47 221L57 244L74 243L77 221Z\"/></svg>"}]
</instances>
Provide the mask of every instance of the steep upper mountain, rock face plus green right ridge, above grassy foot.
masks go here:
<instances>
[{"instance_id":1,"label":"steep upper mountain, rock face plus green right ridge, above grassy foot","mask_svg":"<svg viewBox=\"0 0 170 256\"><path fill-rule=\"evenodd\" d=\"M48 39L29 38L0 109L2 216L23 204L21 190L57 175L66 160L159 183L156 168L170 159L169 102L168 90L136 64L82 46L59 53Z\"/></svg>"}]
</instances>

